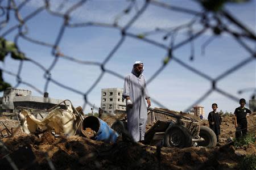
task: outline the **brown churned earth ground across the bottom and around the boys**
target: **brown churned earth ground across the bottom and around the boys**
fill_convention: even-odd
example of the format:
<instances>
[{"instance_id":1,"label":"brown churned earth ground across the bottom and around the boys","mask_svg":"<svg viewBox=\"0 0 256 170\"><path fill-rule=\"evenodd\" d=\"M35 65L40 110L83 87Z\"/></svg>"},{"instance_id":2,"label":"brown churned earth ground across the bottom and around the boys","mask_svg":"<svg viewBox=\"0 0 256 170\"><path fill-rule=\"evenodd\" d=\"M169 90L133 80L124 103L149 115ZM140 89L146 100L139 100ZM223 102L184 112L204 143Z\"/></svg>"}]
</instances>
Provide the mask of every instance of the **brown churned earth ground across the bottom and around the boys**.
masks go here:
<instances>
[{"instance_id":1,"label":"brown churned earth ground across the bottom and around the boys","mask_svg":"<svg viewBox=\"0 0 256 170\"><path fill-rule=\"evenodd\" d=\"M116 118L105 116L103 120L111 125ZM10 154L9 158L14 160L18 169L238 169L243 155L256 155L256 143L240 148L226 145L227 139L234 137L235 132L232 114L222 118L220 147L182 149L156 148L122 139L108 144L89 137L55 137L48 132L27 135L20 131L18 121L7 117L0 117L0 120L14 134L1 139L0 158L5 157L6 160L6 155ZM247 120L249 132L255 134L256 114L247 117ZM207 120L198 121L208 126ZM5 128L2 122L0 129ZM147 125L148 128L151 126ZM88 129L88 133L92 132ZM9 168L13 165L7 163ZM8 168L4 159L0 159L0 164Z\"/></svg>"}]
</instances>

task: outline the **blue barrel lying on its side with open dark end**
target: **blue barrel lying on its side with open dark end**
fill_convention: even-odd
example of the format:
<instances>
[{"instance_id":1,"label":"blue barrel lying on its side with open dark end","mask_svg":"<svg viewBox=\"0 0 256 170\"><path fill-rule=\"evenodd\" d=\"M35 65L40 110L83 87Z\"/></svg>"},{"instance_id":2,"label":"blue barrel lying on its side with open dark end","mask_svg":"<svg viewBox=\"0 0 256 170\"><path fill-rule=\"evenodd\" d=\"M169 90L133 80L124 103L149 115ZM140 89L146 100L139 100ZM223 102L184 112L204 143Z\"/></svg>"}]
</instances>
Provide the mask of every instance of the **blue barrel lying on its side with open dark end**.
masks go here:
<instances>
[{"instance_id":1,"label":"blue barrel lying on its side with open dark end","mask_svg":"<svg viewBox=\"0 0 256 170\"><path fill-rule=\"evenodd\" d=\"M96 131L94 139L96 141L115 142L117 141L118 133L109 127L109 125L95 116L88 116L82 121L81 131L85 134L85 129L90 128Z\"/></svg>"}]
</instances>

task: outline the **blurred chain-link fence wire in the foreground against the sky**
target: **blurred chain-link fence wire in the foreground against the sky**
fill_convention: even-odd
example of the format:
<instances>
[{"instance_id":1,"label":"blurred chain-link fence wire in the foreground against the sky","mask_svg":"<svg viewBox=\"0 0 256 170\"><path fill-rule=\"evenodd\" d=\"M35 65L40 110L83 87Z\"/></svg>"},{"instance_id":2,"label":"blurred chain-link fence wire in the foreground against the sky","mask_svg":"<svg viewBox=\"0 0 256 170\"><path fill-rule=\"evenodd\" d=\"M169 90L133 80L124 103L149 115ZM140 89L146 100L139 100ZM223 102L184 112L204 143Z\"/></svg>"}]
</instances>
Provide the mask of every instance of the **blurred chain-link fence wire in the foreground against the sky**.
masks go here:
<instances>
[{"instance_id":1,"label":"blurred chain-link fence wire in the foreground against the sky","mask_svg":"<svg viewBox=\"0 0 256 170\"><path fill-rule=\"evenodd\" d=\"M155 71L155 73L148 79L147 84L150 84L152 80L158 76L161 71L166 67L168 62L170 61L176 61L177 63L180 64L180 66L184 67L185 69L188 69L189 71L192 71L193 73L203 77L204 79L208 80L209 82L212 83L212 88L205 92L203 96L201 96L195 103L193 103L191 106L188 107L191 108L193 105L200 103L200 101L204 100L205 97L209 96L213 91L219 92L221 95L227 96L232 100L238 100L237 97L233 96L232 94L226 92L225 90L222 90L221 88L216 86L216 83L220 81L221 79L224 79L226 76L229 74L232 74L236 70L240 69L240 67L246 66L246 63L249 63L255 59L255 49L251 48L249 45L247 45L243 40L244 39L249 39L252 41L255 41L255 35L253 32L250 32L249 29L247 29L242 23L240 23L238 20L236 20L231 14L229 14L228 11L226 10L221 10L216 13L212 13L209 11L193 11L189 10L186 8L181 8L181 7L176 7L176 6L171 6L163 2L158 2L158 1L145 1L143 6L141 8L138 8L137 1L130 1L130 5L123 10L123 12L117 16L115 16L114 23L96 23L96 22L84 22L84 23L72 23L72 17L71 17L71 12L75 11L77 8L81 7L82 5L86 5L86 1L79 1L79 2L73 2L73 5L68 7L67 10L64 12L59 12L62 8L64 8L65 4L67 1L63 1L60 3L59 7L57 7L57 10L52 10L51 9L51 1L44 1L44 5L36 8L36 10L32 11L31 14L28 14L26 16L22 16L20 14L20 10L28 3L29 1L22 1L22 3L19 3L19 5L16 4L15 1L8 1L7 6L1 6L2 14L1 18L4 19L1 21L1 28L4 28L10 20L10 12L14 11L15 12L15 19L18 21L18 24L14 25L13 27L7 29L5 32L1 31L1 37L6 37L10 33L15 32L15 45L17 48L19 47L18 40L19 39L24 39L27 41L30 41L35 44L47 46L48 48L51 48L51 53L52 56L55 58L51 65L49 67L45 67L42 65L42 63L37 62L33 58L29 57L24 57L20 58L22 61L20 61L19 69L17 73L11 73L9 70L3 70L1 68L1 71L6 74L10 74L13 76L16 76L16 84L15 87L18 87L20 84L26 84L27 86L31 87L32 89L36 90L40 94L43 94L44 92L48 91L48 86L49 83L54 83L57 86L61 88L65 88L69 91L75 92L78 95L82 95L84 97L84 107L88 104L91 107L93 107L93 104L88 101L87 96L90 94L90 92L96 87L96 85L100 82L102 76L104 74L112 74L116 76L117 78L123 79L124 76L119 74L118 71L113 71L105 68L105 65L107 62L112 59L113 55L117 50L120 48L120 46L123 44L125 41L126 37L131 37L133 39L138 39L141 41L146 41L150 44L159 46L163 50L166 50L167 57L164 58L164 61L162 63L162 66L159 67L158 70ZM54 1L53 1L54 2ZM3 3L3 2L2 2ZM153 6L159 6L162 8L167 8L168 10L174 10L177 12L184 12L189 15L195 16L191 22L183 25L179 25L178 27L175 28L168 28L168 29L161 29L161 28L156 28L155 30L151 32L144 32L140 34L134 34L128 31L128 29L133 25L133 23L143 14L145 10L147 10L148 5L153 5ZM129 13L133 8L137 11L135 15L129 20L129 22L121 27L118 25L119 19L122 18L122 16L126 15ZM42 11L47 11L51 15L55 15L61 19L63 19L63 24L61 25L61 28L59 29L59 32L57 33L57 37L55 39L55 43L51 44L49 42L43 42L40 40L33 39L32 37L27 36L29 32L29 27L27 26L27 22L35 17L39 12ZM228 22L226 21L228 20ZM193 26L196 24L201 24L203 27L199 31L193 31ZM238 27L240 30L233 31L232 27L235 25ZM117 29L121 33L121 38L117 42L117 44L114 46L114 48L110 51L108 55L106 55L104 61L102 62L92 62L92 61L86 61L86 60L80 60L76 59L73 56L69 56L67 54L64 54L61 52L61 49L59 48L59 44L61 39L64 36L65 29L67 28L75 28L75 27L89 27L89 26L96 26L96 27L109 27L112 29ZM178 32L181 32L183 29L188 31L188 37L187 39L175 44L175 36ZM213 31L212 37L210 37L209 40L207 40L203 45L202 45L202 50L205 49L205 47L214 39L214 37L220 35L220 33L228 33L234 37L234 40L237 41L243 49L245 49L248 52L248 57L238 63L237 65L232 66L230 69L224 71L224 73L220 74L217 76L217 78L211 78L209 75L203 73L200 71L200 69L195 69L191 66L189 66L187 63L181 61L179 57L174 56L175 50L181 48L181 46L190 43L191 44L191 60L194 58L194 46L193 46L193 40L197 39L198 37L202 36L207 30ZM163 44L155 40L148 39L147 36L158 33L158 32L165 32L166 36L163 37L163 39L167 39L169 36L171 37L170 44ZM19 49L22 52L22 49ZM18 56L19 57L19 56ZM73 87L68 87L65 86L65 84L62 84L58 82L58 80L53 79L51 77L51 71L54 69L54 67L57 66L57 63L60 59L67 59L71 62L76 62L79 64L83 65L95 65L100 67L101 69L101 74L96 78L95 82L92 84L92 86L87 90L86 92L76 90ZM32 62L36 66L38 66L38 69L42 69L44 71L44 79L46 80L44 84L44 92L40 90L39 88L33 86L30 82L24 82L22 80L22 77L20 76L20 73L22 72L23 69L23 62ZM255 89L253 89L253 97L255 97ZM160 105L161 107L164 107L160 101L154 100L154 98L151 98L155 103ZM165 107L164 107L165 108ZM188 111L188 109L186 111Z\"/></svg>"}]
</instances>

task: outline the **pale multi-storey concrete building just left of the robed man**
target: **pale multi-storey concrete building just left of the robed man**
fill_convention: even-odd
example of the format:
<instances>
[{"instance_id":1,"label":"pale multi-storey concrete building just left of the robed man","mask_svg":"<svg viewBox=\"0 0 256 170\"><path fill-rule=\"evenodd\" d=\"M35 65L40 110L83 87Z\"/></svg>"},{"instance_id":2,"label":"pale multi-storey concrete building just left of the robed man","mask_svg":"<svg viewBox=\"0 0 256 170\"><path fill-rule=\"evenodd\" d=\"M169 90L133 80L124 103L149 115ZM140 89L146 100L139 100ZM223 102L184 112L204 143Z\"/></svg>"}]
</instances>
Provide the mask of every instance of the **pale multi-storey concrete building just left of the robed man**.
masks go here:
<instances>
[{"instance_id":1,"label":"pale multi-storey concrete building just left of the robed man","mask_svg":"<svg viewBox=\"0 0 256 170\"><path fill-rule=\"evenodd\" d=\"M102 88L101 89L101 108L104 113L118 114L125 113L125 101L122 101L122 88Z\"/></svg>"}]
</instances>

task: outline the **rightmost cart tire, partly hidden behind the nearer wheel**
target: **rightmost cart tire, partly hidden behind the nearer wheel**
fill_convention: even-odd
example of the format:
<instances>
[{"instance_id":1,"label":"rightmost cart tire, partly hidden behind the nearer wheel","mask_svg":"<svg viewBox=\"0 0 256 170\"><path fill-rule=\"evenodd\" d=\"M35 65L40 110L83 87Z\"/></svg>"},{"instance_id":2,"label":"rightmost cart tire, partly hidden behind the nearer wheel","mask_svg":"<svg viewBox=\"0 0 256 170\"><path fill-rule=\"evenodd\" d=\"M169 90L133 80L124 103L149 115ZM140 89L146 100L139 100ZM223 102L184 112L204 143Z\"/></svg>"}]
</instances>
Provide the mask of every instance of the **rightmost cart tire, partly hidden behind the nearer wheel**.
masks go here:
<instances>
[{"instance_id":1,"label":"rightmost cart tire, partly hidden behind the nearer wheel","mask_svg":"<svg viewBox=\"0 0 256 170\"><path fill-rule=\"evenodd\" d=\"M214 131L207 126L200 126L199 136L204 138L205 141L198 142L198 146L216 147L217 137Z\"/></svg>"}]
</instances>

